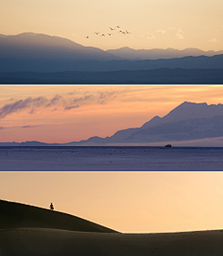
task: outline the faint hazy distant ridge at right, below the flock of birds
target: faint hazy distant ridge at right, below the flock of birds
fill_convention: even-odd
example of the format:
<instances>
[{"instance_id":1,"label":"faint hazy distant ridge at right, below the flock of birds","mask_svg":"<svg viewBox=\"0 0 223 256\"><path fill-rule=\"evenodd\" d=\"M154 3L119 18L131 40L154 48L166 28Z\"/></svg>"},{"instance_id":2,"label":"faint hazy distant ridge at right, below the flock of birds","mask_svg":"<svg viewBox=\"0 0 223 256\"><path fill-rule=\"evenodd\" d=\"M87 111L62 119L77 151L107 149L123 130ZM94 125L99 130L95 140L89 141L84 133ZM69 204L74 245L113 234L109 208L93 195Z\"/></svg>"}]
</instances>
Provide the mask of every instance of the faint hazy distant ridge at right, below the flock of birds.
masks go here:
<instances>
[{"instance_id":1,"label":"faint hazy distant ridge at right, below the flock of birds","mask_svg":"<svg viewBox=\"0 0 223 256\"><path fill-rule=\"evenodd\" d=\"M153 48L153 49L133 49L130 47L121 47L118 49L109 49L106 52L112 53L126 60L158 60L158 59L173 59L187 56L214 56L223 54L223 50L208 50L204 51L199 48L186 48L182 50L174 48Z\"/></svg>"}]
</instances>

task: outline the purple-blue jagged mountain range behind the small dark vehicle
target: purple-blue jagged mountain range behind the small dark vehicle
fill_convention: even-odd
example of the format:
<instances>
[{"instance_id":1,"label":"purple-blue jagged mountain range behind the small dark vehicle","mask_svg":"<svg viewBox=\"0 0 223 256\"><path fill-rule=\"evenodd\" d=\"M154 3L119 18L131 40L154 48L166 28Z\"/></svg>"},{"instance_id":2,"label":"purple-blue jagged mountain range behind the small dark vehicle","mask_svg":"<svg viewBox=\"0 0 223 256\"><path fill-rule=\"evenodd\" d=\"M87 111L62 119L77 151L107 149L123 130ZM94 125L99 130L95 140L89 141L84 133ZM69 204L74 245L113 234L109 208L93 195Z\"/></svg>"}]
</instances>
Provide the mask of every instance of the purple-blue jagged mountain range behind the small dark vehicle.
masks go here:
<instances>
[{"instance_id":1,"label":"purple-blue jagged mountain range behind the small dark vehicle","mask_svg":"<svg viewBox=\"0 0 223 256\"><path fill-rule=\"evenodd\" d=\"M111 137L91 137L85 141L65 144L47 144L37 141L23 143L8 142L0 145L115 145L150 143L158 141L192 141L223 137L223 104L183 102L164 117L154 116L140 128L118 130Z\"/></svg>"}]
</instances>

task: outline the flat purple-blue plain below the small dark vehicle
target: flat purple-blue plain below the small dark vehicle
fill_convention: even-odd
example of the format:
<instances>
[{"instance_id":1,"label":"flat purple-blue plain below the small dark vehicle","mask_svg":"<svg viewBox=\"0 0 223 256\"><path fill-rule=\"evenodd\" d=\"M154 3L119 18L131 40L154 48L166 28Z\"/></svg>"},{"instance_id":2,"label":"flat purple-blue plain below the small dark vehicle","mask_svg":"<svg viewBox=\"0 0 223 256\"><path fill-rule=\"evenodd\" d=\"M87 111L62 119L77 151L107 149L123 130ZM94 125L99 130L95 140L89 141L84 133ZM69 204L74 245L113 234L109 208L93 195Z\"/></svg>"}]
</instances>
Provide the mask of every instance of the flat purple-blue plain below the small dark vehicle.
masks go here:
<instances>
[{"instance_id":1,"label":"flat purple-blue plain below the small dark vehicle","mask_svg":"<svg viewBox=\"0 0 223 256\"><path fill-rule=\"evenodd\" d=\"M0 170L223 170L223 148L1 147Z\"/></svg>"}]
</instances>

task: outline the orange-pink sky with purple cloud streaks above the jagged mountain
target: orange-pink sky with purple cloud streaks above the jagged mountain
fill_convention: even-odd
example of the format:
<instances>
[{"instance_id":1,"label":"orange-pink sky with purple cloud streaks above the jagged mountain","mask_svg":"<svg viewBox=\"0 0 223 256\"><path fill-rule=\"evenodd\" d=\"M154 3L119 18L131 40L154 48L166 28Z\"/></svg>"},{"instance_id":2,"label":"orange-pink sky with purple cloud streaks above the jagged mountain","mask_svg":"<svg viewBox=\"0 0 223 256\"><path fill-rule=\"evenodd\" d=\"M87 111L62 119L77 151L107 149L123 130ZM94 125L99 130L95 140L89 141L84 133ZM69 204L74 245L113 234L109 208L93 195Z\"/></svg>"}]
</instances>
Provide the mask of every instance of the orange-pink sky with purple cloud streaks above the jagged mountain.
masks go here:
<instances>
[{"instance_id":1,"label":"orange-pink sky with purple cloud streaks above the jagged mountain","mask_svg":"<svg viewBox=\"0 0 223 256\"><path fill-rule=\"evenodd\" d=\"M0 141L112 136L184 101L223 103L222 86L0 86Z\"/></svg>"}]
</instances>

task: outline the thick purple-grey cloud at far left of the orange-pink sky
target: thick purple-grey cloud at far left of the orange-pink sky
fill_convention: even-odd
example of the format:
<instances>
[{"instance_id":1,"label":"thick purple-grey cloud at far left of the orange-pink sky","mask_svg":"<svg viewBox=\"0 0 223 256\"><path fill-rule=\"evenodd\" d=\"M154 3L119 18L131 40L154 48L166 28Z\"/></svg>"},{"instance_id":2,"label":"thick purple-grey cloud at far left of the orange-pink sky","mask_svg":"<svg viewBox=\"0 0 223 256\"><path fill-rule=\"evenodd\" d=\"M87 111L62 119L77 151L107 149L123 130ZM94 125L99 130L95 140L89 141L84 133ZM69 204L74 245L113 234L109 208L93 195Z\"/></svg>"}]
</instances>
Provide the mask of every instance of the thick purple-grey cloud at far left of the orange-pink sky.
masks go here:
<instances>
[{"instance_id":1,"label":"thick purple-grey cloud at far left of the orange-pink sky","mask_svg":"<svg viewBox=\"0 0 223 256\"><path fill-rule=\"evenodd\" d=\"M30 107L40 107L46 104L47 100L45 97L38 97L38 98L32 98L29 97L25 100L16 101L11 104L7 104L0 108L0 119L4 118L5 116L16 113L22 109L30 108ZM32 110L33 111L33 110Z\"/></svg>"}]
</instances>

